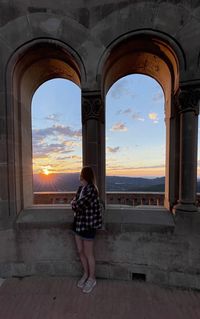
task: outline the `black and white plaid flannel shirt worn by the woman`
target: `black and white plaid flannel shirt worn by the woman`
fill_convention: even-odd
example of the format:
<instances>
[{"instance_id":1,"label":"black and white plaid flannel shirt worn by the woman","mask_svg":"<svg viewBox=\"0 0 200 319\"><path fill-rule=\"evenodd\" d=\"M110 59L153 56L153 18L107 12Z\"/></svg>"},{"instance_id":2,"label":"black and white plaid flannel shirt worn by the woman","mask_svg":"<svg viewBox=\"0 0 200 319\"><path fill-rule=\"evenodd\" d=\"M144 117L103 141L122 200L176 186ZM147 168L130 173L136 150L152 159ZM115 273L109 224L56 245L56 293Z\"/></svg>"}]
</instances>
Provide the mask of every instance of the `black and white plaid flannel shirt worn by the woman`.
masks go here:
<instances>
[{"instance_id":1,"label":"black and white plaid flannel shirt worn by the woman","mask_svg":"<svg viewBox=\"0 0 200 319\"><path fill-rule=\"evenodd\" d=\"M102 227L102 214L99 196L96 187L88 184L84 187L82 197L79 198L83 186L78 188L71 205L74 211L74 226L77 232L100 229Z\"/></svg>"}]
</instances>

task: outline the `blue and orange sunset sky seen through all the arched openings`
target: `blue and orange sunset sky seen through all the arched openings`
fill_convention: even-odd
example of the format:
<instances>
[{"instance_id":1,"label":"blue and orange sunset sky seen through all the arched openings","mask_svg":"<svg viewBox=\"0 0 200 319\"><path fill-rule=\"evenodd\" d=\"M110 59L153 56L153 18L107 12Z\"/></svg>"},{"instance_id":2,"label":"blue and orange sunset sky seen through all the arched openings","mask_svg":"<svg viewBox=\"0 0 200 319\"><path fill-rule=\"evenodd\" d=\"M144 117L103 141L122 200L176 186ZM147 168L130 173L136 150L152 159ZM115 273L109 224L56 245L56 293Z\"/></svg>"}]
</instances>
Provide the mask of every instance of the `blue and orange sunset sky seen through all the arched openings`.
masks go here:
<instances>
[{"instance_id":1,"label":"blue and orange sunset sky seen through all the arched openings","mask_svg":"<svg viewBox=\"0 0 200 319\"><path fill-rule=\"evenodd\" d=\"M45 82L32 100L33 172L82 166L81 91L64 79ZM164 96L150 77L129 75L106 96L106 174L165 174Z\"/></svg>"}]
</instances>

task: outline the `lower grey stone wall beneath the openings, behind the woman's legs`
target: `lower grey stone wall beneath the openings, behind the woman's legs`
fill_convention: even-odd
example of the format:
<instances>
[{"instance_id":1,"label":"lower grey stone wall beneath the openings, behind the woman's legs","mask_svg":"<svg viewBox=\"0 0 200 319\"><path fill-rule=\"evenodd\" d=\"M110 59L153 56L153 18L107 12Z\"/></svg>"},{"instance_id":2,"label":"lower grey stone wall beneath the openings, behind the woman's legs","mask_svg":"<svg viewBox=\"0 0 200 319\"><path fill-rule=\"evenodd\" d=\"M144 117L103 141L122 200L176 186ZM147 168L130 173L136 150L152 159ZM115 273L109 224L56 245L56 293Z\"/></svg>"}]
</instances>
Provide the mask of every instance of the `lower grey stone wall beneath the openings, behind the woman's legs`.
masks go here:
<instances>
[{"instance_id":1,"label":"lower grey stone wall beneath the openings, behind the woman's legs","mask_svg":"<svg viewBox=\"0 0 200 319\"><path fill-rule=\"evenodd\" d=\"M105 213L105 229L95 243L98 278L138 277L200 289L199 214L180 213L174 219L164 209ZM71 211L22 213L14 229L0 232L0 276L79 276L71 222Z\"/></svg>"}]
</instances>

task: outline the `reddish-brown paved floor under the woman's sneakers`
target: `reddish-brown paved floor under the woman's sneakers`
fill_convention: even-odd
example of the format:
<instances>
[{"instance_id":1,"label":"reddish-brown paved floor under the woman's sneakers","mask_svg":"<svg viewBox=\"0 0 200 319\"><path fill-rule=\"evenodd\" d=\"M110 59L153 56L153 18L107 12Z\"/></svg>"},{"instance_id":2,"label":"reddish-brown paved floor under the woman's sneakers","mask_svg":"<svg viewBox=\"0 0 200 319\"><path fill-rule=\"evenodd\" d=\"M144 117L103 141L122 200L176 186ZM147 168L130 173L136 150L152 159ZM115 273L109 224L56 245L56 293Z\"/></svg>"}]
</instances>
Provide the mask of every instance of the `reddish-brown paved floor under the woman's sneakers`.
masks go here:
<instances>
[{"instance_id":1,"label":"reddish-brown paved floor under the woman's sneakers","mask_svg":"<svg viewBox=\"0 0 200 319\"><path fill-rule=\"evenodd\" d=\"M139 281L98 280L91 294L76 278L0 280L0 319L198 319L200 292Z\"/></svg>"}]
</instances>

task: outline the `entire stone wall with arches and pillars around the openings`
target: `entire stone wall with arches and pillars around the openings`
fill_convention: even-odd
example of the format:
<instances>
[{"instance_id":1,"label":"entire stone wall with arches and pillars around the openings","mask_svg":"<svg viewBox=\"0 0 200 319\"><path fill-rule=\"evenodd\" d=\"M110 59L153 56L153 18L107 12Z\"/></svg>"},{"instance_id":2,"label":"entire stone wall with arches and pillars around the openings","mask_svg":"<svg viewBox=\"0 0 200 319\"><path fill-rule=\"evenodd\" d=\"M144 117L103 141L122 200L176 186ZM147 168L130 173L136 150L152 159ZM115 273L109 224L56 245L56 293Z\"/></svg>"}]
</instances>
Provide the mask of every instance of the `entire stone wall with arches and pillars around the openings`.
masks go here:
<instances>
[{"instance_id":1,"label":"entire stone wall with arches and pillars around the openings","mask_svg":"<svg viewBox=\"0 0 200 319\"><path fill-rule=\"evenodd\" d=\"M1 277L80 273L72 212L31 207L35 89L56 76L80 85L83 164L94 167L104 199L105 95L120 76L140 70L165 91L168 210L107 209L97 275L131 280L138 273L149 282L200 288L199 30L199 1L1 1Z\"/></svg>"}]
</instances>

